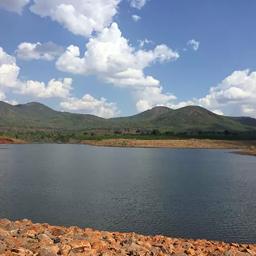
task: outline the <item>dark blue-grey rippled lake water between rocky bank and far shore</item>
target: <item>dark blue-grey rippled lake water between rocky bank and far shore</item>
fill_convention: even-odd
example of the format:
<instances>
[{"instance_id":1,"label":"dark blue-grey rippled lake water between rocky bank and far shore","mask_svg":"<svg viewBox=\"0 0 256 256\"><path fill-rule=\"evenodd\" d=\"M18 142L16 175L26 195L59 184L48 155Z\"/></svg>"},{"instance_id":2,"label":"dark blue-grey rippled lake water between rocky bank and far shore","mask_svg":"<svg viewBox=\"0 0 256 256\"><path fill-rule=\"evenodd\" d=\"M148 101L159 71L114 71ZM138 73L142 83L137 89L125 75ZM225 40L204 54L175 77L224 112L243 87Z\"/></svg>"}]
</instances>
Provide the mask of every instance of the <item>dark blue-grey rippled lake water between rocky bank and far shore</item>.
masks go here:
<instances>
[{"instance_id":1,"label":"dark blue-grey rippled lake water between rocky bank and far shore","mask_svg":"<svg viewBox=\"0 0 256 256\"><path fill-rule=\"evenodd\" d=\"M0 218L256 243L256 157L227 150L0 146Z\"/></svg>"}]
</instances>

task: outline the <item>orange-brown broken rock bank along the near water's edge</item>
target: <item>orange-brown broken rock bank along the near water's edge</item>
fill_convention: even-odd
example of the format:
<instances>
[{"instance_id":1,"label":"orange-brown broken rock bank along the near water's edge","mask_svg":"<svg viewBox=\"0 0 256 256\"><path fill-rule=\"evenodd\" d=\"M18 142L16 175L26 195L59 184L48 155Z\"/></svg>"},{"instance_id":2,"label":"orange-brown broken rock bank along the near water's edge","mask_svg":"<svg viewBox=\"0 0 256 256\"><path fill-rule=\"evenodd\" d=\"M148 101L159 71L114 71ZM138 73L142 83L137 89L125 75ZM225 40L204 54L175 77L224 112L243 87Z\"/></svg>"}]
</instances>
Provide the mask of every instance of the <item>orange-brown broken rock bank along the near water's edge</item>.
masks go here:
<instances>
[{"instance_id":1,"label":"orange-brown broken rock bank along the near water's edge","mask_svg":"<svg viewBox=\"0 0 256 256\"><path fill-rule=\"evenodd\" d=\"M254 256L256 245L142 236L78 227L0 220L0 255L4 256Z\"/></svg>"}]
</instances>

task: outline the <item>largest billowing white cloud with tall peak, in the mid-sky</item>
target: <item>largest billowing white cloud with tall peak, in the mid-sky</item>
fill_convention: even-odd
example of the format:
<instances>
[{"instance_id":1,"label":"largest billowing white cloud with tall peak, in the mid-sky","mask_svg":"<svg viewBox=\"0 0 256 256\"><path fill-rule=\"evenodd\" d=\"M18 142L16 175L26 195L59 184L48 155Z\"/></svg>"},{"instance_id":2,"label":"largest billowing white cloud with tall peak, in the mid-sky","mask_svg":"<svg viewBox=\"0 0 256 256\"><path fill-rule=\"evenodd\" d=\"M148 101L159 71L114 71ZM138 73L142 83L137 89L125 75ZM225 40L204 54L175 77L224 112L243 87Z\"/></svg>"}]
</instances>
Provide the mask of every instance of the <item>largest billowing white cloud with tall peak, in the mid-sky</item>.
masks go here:
<instances>
[{"instance_id":1,"label":"largest billowing white cloud with tall peak, in the mid-sky","mask_svg":"<svg viewBox=\"0 0 256 256\"><path fill-rule=\"evenodd\" d=\"M56 68L84 76L96 75L101 82L122 88L158 87L159 81L145 76L144 68L179 57L177 52L165 45L150 51L136 51L121 35L116 23L104 28L97 37L90 38L86 46L87 52L82 58L78 47L68 47L57 60Z\"/></svg>"}]
</instances>

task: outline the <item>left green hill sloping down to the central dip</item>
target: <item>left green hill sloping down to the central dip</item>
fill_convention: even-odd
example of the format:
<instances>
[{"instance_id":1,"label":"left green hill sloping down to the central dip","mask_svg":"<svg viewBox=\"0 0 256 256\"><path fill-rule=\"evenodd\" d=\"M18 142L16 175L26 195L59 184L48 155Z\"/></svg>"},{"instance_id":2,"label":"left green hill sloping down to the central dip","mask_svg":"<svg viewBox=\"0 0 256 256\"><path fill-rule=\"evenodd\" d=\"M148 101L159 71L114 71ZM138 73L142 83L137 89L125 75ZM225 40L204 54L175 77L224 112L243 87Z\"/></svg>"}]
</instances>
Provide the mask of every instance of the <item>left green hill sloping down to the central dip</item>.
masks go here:
<instances>
[{"instance_id":1,"label":"left green hill sloping down to the central dip","mask_svg":"<svg viewBox=\"0 0 256 256\"><path fill-rule=\"evenodd\" d=\"M12 106L0 101L0 126L74 130L97 128L105 123L101 117L59 112L38 102Z\"/></svg>"}]
</instances>

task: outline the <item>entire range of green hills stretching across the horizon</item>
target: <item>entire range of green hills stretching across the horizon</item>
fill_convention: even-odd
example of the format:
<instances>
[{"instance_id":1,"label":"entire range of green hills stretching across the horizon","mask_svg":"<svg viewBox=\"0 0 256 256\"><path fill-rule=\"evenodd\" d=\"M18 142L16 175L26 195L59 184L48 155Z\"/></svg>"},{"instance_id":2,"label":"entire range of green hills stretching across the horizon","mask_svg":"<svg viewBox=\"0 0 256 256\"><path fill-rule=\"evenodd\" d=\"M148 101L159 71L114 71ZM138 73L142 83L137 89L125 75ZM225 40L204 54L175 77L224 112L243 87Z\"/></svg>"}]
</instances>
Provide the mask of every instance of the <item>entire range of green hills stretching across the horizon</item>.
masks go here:
<instances>
[{"instance_id":1,"label":"entire range of green hills stretching across the horizon","mask_svg":"<svg viewBox=\"0 0 256 256\"><path fill-rule=\"evenodd\" d=\"M161 131L249 131L256 119L220 116L200 106L172 110L157 106L130 117L104 119L94 115L58 112L41 103L16 106L0 101L0 126L55 130L159 129Z\"/></svg>"}]
</instances>

